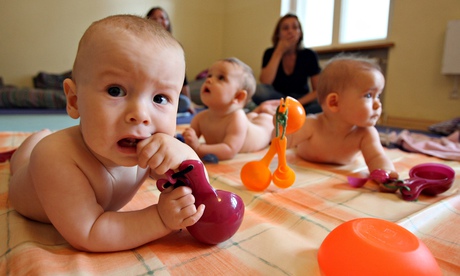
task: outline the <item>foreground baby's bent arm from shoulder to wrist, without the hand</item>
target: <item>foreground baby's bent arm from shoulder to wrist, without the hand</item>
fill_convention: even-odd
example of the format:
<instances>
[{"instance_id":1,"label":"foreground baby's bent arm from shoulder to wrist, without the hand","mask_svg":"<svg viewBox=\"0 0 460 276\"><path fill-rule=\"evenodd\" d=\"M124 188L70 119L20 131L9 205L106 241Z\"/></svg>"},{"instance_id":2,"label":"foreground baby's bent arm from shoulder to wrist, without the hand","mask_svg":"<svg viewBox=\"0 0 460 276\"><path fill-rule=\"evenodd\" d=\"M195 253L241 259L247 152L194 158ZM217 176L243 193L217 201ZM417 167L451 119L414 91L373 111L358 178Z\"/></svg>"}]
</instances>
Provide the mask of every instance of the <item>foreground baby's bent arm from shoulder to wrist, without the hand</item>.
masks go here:
<instances>
[{"instance_id":1,"label":"foreground baby's bent arm from shoulder to wrist, without the hand","mask_svg":"<svg viewBox=\"0 0 460 276\"><path fill-rule=\"evenodd\" d=\"M35 147L28 173L47 218L73 247L92 252L127 250L171 232L156 204L117 212L144 179L139 176L136 181L136 171L145 170L108 169L75 146L78 142L59 143L62 136L50 135Z\"/></svg>"}]
</instances>

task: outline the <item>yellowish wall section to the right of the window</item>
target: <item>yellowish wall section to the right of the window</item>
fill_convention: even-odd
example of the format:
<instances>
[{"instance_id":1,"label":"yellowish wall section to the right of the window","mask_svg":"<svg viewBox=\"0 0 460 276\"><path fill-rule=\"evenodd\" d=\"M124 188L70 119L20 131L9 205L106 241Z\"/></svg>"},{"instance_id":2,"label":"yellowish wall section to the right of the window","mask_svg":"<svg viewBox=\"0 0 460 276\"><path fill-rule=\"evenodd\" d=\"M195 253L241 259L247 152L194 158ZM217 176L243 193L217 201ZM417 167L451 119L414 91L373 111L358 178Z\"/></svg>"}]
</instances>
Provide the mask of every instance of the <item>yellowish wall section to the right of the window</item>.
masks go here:
<instances>
[{"instance_id":1,"label":"yellowish wall section to the right of the window","mask_svg":"<svg viewBox=\"0 0 460 276\"><path fill-rule=\"evenodd\" d=\"M460 99L449 99L453 78L441 74L447 22L460 19L460 1L393 2L387 115L438 121L460 117Z\"/></svg>"}]
</instances>

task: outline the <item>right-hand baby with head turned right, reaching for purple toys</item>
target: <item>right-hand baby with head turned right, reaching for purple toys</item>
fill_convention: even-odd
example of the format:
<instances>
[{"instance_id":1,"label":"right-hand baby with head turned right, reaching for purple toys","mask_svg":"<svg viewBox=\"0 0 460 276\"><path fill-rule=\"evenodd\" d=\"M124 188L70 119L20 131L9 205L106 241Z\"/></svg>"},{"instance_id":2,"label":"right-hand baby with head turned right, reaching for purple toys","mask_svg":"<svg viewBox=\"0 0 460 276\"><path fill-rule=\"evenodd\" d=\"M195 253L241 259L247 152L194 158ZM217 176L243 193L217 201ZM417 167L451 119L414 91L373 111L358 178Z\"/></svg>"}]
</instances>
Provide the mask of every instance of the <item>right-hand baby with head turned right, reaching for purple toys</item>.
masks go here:
<instances>
[{"instance_id":1,"label":"right-hand baby with head turned right, reaching for purple toys","mask_svg":"<svg viewBox=\"0 0 460 276\"><path fill-rule=\"evenodd\" d=\"M374 127L382 113L385 79L371 59L338 56L319 75L322 113L308 115L302 128L287 136L288 148L310 162L346 165L362 153L370 172L381 169L398 178Z\"/></svg>"}]
</instances>

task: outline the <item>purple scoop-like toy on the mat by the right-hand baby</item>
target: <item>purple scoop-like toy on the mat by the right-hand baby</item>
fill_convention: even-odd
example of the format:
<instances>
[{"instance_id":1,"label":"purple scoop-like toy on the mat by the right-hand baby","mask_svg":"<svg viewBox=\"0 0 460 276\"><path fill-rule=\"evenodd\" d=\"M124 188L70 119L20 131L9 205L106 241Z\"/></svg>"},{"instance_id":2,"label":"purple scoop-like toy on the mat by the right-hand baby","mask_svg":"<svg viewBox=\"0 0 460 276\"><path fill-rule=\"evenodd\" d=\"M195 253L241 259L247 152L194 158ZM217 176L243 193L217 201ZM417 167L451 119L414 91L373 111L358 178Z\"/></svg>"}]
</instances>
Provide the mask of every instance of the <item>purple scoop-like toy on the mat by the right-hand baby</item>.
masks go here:
<instances>
[{"instance_id":1,"label":"purple scoop-like toy on the mat by the right-hand baby","mask_svg":"<svg viewBox=\"0 0 460 276\"><path fill-rule=\"evenodd\" d=\"M413 167L409 171L409 179L398 180L390 178L385 170L374 170L368 178L348 176L348 182L352 187L359 188L367 180L375 180L382 183L390 191L400 190L402 199L407 201L417 200L419 195L435 196L452 187L454 182L454 170L444 164L424 163Z\"/></svg>"}]
</instances>

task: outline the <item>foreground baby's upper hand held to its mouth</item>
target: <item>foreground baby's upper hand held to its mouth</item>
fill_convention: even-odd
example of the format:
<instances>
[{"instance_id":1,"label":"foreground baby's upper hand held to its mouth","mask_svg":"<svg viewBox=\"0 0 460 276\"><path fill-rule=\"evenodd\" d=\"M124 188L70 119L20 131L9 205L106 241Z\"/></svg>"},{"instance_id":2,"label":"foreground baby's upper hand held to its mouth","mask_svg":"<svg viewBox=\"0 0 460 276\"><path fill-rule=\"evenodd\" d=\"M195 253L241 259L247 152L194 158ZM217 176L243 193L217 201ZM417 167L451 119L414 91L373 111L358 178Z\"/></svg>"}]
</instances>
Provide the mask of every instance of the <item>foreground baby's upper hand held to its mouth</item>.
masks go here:
<instances>
[{"instance_id":1,"label":"foreground baby's upper hand held to its mouth","mask_svg":"<svg viewBox=\"0 0 460 276\"><path fill-rule=\"evenodd\" d=\"M139 166L150 167L157 175L164 175L169 169L177 169L184 160L199 160L188 145L164 133L153 134L139 142L137 155Z\"/></svg>"}]
</instances>

